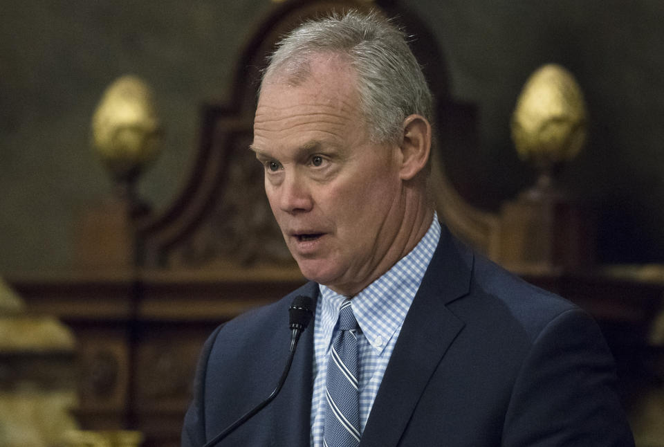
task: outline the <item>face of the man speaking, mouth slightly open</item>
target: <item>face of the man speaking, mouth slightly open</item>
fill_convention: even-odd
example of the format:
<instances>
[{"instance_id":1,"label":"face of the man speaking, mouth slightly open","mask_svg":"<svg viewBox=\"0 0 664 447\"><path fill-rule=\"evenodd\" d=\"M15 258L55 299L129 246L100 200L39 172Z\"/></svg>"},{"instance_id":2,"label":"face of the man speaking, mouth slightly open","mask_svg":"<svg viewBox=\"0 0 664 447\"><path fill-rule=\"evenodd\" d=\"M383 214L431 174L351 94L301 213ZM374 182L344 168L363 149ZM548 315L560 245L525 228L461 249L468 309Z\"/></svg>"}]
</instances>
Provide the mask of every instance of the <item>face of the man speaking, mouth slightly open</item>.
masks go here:
<instances>
[{"instance_id":1,"label":"face of the man speaking, mouth slightly open","mask_svg":"<svg viewBox=\"0 0 664 447\"><path fill-rule=\"evenodd\" d=\"M270 207L302 274L355 295L394 264L400 148L371 142L354 73L337 58L314 58L297 86L273 77L252 144Z\"/></svg>"}]
</instances>

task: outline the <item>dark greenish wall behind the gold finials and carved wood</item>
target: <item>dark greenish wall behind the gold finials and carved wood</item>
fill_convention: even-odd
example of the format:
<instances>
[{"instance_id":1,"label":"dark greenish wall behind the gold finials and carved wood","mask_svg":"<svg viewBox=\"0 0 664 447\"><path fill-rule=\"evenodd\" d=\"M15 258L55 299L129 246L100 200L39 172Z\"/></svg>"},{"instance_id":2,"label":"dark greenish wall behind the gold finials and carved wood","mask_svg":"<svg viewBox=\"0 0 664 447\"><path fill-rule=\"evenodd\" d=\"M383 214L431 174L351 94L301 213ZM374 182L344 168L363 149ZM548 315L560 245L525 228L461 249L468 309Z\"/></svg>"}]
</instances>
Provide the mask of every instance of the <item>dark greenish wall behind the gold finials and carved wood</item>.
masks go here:
<instances>
[{"instance_id":1,"label":"dark greenish wall behind the gold finials and carved wood","mask_svg":"<svg viewBox=\"0 0 664 447\"><path fill-rule=\"evenodd\" d=\"M664 262L664 2L400 0L446 58L454 100L477 106L477 149L448 161L465 197L496 210L533 181L509 121L537 67L577 78L587 148L562 185L600 207L598 260ZM0 272L71 264L73 225L111 183L90 145L102 91L133 73L154 89L163 154L140 181L157 210L184 181L199 107L231 97L234 63L268 0L0 2ZM415 31L416 32L416 31ZM473 188L464 188L472 183Z\"/></svg>"}]
</instances>

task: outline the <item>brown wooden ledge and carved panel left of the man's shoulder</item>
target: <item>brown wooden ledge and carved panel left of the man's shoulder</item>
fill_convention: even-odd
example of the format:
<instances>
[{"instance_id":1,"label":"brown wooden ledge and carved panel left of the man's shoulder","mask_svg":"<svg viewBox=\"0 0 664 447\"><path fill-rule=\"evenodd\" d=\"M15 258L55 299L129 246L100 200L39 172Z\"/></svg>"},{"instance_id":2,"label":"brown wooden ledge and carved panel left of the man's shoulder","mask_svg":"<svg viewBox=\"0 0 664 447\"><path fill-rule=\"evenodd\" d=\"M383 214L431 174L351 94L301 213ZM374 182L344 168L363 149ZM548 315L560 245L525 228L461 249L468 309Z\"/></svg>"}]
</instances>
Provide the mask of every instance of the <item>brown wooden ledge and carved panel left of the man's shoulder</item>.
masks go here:
<instances>
[{"instance_id":1,"label":"brown wooden ledge and carved panel left of the man's shoulder","mask_svg":"<svg viewBox=\"0 0 664 447\"><path fill-rule=\"evenodd\" d=\"M304 283L297 268L83 272L8 278L33 313L77 339L83 428L178 446L200 349L214 328Z\"/></svg>"}]
</instances>

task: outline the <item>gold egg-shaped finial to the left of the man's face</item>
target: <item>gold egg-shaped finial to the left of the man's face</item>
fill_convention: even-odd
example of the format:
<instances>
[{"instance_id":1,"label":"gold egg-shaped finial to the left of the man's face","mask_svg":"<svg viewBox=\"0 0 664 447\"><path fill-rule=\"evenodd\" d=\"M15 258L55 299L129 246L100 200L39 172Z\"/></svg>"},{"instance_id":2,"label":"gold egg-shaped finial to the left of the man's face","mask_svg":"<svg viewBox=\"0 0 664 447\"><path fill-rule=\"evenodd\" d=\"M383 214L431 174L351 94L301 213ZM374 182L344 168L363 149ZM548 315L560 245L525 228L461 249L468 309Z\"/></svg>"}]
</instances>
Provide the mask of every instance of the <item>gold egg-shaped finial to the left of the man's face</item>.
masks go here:
<instances>
[{"instance_id":1,"label":"gold egg-shaped finial to the left of the man's face","mask_svg":"<svg viewBox=\"0 0 664 447\"><path fill-rule=\"evenodd\" d=\"M149 86L132 75L113 82L92 118L93 146L113 177L131 181L156 158L160 125Z\"/></svg>"}]
</instances>

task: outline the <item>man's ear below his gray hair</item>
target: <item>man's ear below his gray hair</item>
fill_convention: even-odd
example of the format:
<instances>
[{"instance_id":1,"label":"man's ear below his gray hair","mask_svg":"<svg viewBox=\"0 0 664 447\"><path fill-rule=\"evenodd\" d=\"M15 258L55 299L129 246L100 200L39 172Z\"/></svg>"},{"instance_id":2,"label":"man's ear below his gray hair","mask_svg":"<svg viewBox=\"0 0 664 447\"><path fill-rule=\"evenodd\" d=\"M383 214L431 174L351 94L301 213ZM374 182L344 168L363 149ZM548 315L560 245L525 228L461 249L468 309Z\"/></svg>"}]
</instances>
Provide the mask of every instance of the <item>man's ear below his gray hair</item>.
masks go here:
<instances>
[{"instance_id":1,"label":"man's ear below his gray hair","mask_svg":"<svg viewBox=\"0 0 664 447\"><path fill-rule=\"evenodd\" d=\"M431 125L421 115L410 115L403 122L400 145L402 164L400 177L410 180L427 165L431 152Z\"/></svg>"}]
</instances>

